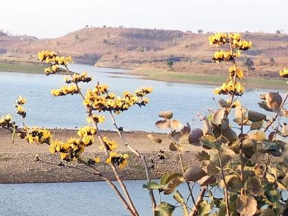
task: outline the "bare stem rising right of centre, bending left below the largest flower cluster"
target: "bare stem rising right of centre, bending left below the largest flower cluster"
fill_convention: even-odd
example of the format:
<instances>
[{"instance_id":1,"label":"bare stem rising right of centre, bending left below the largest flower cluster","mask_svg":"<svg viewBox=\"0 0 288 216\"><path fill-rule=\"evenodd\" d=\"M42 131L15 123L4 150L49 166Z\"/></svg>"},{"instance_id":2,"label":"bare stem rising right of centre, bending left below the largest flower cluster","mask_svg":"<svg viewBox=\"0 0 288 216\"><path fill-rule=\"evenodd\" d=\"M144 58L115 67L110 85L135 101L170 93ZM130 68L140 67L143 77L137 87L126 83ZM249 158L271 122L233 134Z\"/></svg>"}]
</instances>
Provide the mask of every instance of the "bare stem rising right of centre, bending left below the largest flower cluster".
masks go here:
<instances>
[{"instance_id":1,"label":"bare stem rising right of centre, bending left below the largest flower cluster","mask_svg":"<svg viewBox=\"0 0 288 216\"><path fill-rule=\"evenodd\" d=\"M117 133L119 134L120 138L122 139L122 141L125 143L125 145L128 147L128 149L130 149L131 152L133 152L136 156L138 156L139 158L141 158L142 163L144 165L145 168L145 173L146 173L146 178L148 182L151 182L151 177L150 177L150 172L149 172L149 167L147 165L147 160L145 158L145 156L143 154L141 154L137 149L134 149L129 143L128 141L126 141L125 137L123 136L123 134L120 132L118 125L115 121L115 117L113 116L112 112L110 111L110 118L112 119L112 123L115 126L115 129L117 130ZM156 209L156 201L155 201L155 197L154 197L154 193L153 190L149 190L149 195L150 195L150 199L152 202L152 209L153 212L155 212Z\"/></svg>"}]
</instances>

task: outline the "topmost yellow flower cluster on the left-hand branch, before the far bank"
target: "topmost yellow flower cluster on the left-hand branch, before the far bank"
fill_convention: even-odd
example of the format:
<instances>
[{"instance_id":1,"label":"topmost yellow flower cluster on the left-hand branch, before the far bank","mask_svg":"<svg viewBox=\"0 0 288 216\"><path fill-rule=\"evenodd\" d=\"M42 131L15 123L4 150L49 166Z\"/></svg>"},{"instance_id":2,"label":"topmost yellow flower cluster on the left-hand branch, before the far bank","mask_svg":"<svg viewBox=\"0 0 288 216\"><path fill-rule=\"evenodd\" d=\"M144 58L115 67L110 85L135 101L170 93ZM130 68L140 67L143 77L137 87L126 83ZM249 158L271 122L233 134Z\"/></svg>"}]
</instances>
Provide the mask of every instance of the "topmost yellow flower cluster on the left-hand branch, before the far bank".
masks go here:
<instances>
[{"instance_id":1,"label":"topmost yellow flower cluster on the left-hand branch, before the far bank","mask_svg":"<svg viewBox=\"0 0 288 216\"><path fill-rule=\"evenodd\" d=\"M67 65L72 62L71 56L58 56L58 53L51 50L43 50L38 52L38 60L52 65Z\"/></svg>"}]
</instances>

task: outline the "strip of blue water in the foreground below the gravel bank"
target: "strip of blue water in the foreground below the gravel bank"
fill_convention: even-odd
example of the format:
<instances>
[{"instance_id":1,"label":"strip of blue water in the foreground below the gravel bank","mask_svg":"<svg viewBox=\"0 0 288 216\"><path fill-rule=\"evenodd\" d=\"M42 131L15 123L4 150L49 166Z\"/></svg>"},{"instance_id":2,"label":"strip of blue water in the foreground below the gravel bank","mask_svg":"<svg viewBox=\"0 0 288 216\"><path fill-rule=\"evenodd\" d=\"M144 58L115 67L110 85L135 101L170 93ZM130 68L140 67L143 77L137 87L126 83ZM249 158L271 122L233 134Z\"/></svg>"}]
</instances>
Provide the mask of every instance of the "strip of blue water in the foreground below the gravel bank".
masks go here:
<instances>
[{"instance_id":1,"label":"strip of blue water in the foreground below the gravel bank","mask_svg":"<svg viewBox=\"0 0 288 216\"><path fill-rule=\"evenodd\" d=\"M149 193L142 188L145 181L125 181L128 191L140 215L152 215ZM115 183L117 184L117 183ZM187 185L178 187L187 198ZM195 196L200 188L195 185ZM156 200L159 196L156 191ZM173 195L161 195L161 201L176 204ZM189 206L192 206L191 199ZM45 184L0 184L1 216L36 215L129 215L115 192L106 182L70 182ZM176 208L174 215L182 215L182 209Z\"/></svg>"}]
</instances>

